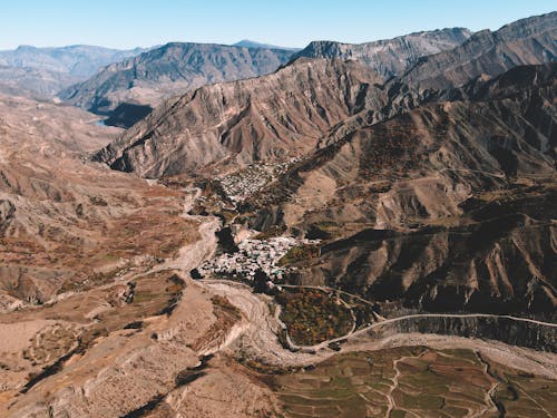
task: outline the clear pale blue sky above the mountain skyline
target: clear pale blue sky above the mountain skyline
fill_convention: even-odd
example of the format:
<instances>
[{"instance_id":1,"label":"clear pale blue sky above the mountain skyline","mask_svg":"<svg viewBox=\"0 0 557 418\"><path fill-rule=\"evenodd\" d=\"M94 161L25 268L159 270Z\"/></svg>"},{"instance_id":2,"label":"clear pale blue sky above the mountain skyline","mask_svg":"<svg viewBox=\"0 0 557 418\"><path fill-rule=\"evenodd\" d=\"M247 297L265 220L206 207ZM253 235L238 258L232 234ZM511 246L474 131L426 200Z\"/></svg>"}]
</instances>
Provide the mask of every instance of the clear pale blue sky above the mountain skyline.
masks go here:
<instances>
[{"instance_id":1,"label":"clear pale blue sky above the mountain skyline","mask_svg":"<svg viewBox=\"0 0 557 418\"><path fill-rule=\"evenodd\" d=\"M554 10L557 0L0 0L0 49L241 39L303 47L456 26L497 29Z\"/></svg>"}]
</instances>

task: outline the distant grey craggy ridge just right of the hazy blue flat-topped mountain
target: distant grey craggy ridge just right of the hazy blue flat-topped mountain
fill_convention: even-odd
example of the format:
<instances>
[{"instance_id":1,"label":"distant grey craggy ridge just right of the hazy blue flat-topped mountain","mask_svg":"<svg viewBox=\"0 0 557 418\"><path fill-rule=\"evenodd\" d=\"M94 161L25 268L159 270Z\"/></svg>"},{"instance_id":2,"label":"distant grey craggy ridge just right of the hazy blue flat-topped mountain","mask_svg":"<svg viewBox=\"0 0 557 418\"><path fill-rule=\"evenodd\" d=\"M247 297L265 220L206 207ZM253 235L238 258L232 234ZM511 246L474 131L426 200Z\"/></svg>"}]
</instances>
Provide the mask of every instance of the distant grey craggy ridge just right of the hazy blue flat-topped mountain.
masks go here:
<instances>
[{"instance_id":1,"label":"distant grey craggy ridge just right of the hazy blue flat-topped mountain","mask_svg":"<svg viewBox=\"0 0 557 418\"><path fill-rule=\"evenodd\" d=\"M365 43L313 41L296 52L293 59L340 58L355 59L375 69L384 77L402 75L421 57L450 50L470 37L465 28L451 28L410 33L393 39Z\"/></svg>"}]
</instances>

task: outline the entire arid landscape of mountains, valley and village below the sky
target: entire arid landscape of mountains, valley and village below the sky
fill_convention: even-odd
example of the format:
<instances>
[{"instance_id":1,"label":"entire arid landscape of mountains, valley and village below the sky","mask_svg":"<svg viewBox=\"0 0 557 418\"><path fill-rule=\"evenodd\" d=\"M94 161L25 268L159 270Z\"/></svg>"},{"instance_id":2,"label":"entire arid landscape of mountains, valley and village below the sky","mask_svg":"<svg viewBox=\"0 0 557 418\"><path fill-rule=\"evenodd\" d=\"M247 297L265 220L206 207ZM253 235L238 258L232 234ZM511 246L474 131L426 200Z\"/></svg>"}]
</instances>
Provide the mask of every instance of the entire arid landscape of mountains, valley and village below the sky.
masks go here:
<instances>
[{"instance_id":1,"label":"entire arid landscape of mountains, valley and village below the sky","mask_svg":"<svg viewBox=\"0 0 557 418\"><path fill-rule=\"evenodd\" d=\"M1 52L0 417L554 417L556 37Z\"/></svg>"}]
</instances>

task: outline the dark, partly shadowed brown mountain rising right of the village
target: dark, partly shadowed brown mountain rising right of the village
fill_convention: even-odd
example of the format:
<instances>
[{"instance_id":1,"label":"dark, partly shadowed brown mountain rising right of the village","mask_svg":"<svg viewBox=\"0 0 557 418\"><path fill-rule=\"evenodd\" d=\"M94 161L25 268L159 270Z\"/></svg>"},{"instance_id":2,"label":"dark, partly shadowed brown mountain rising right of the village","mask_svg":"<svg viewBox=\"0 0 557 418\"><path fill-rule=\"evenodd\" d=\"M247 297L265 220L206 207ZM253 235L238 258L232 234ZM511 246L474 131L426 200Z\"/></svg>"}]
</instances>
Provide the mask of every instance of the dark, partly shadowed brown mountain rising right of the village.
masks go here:
<instances>
[{"instance_id":1,"label":"dark, partly shadowed brown mountain rising right of the village","mask_svg":"<svg viewBox=\"0 0 557 418\"><path fill-rule=\"evenodd\" d=\"M477 79L355 129L244 210L331 241L297 280L427 310L553 313L556 87L557 65Z\"/></svg>"}]
</instances>

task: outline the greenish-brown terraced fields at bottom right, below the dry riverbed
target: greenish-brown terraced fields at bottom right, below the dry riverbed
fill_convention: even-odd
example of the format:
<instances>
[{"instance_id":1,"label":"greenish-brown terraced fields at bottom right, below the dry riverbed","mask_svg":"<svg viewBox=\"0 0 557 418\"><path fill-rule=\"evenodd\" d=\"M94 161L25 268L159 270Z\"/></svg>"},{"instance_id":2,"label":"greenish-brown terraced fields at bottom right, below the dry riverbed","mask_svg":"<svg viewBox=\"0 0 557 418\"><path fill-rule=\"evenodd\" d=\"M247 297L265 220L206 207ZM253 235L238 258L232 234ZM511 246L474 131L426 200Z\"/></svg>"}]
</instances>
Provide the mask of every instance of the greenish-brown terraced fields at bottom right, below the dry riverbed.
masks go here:
<instances>
[{"instance_id":1,"label":"greenish-brown terraced fields at bottom right, below the dry riverbed","mask_svg":"<svg viewBox=\"0 0 557 418\"><path fill-rule=\"evenodd\" d=\"M471 350L424 347L335 356L276 376L287 417L551 417L557 381Z\"/></svg>"}]
</instances>

